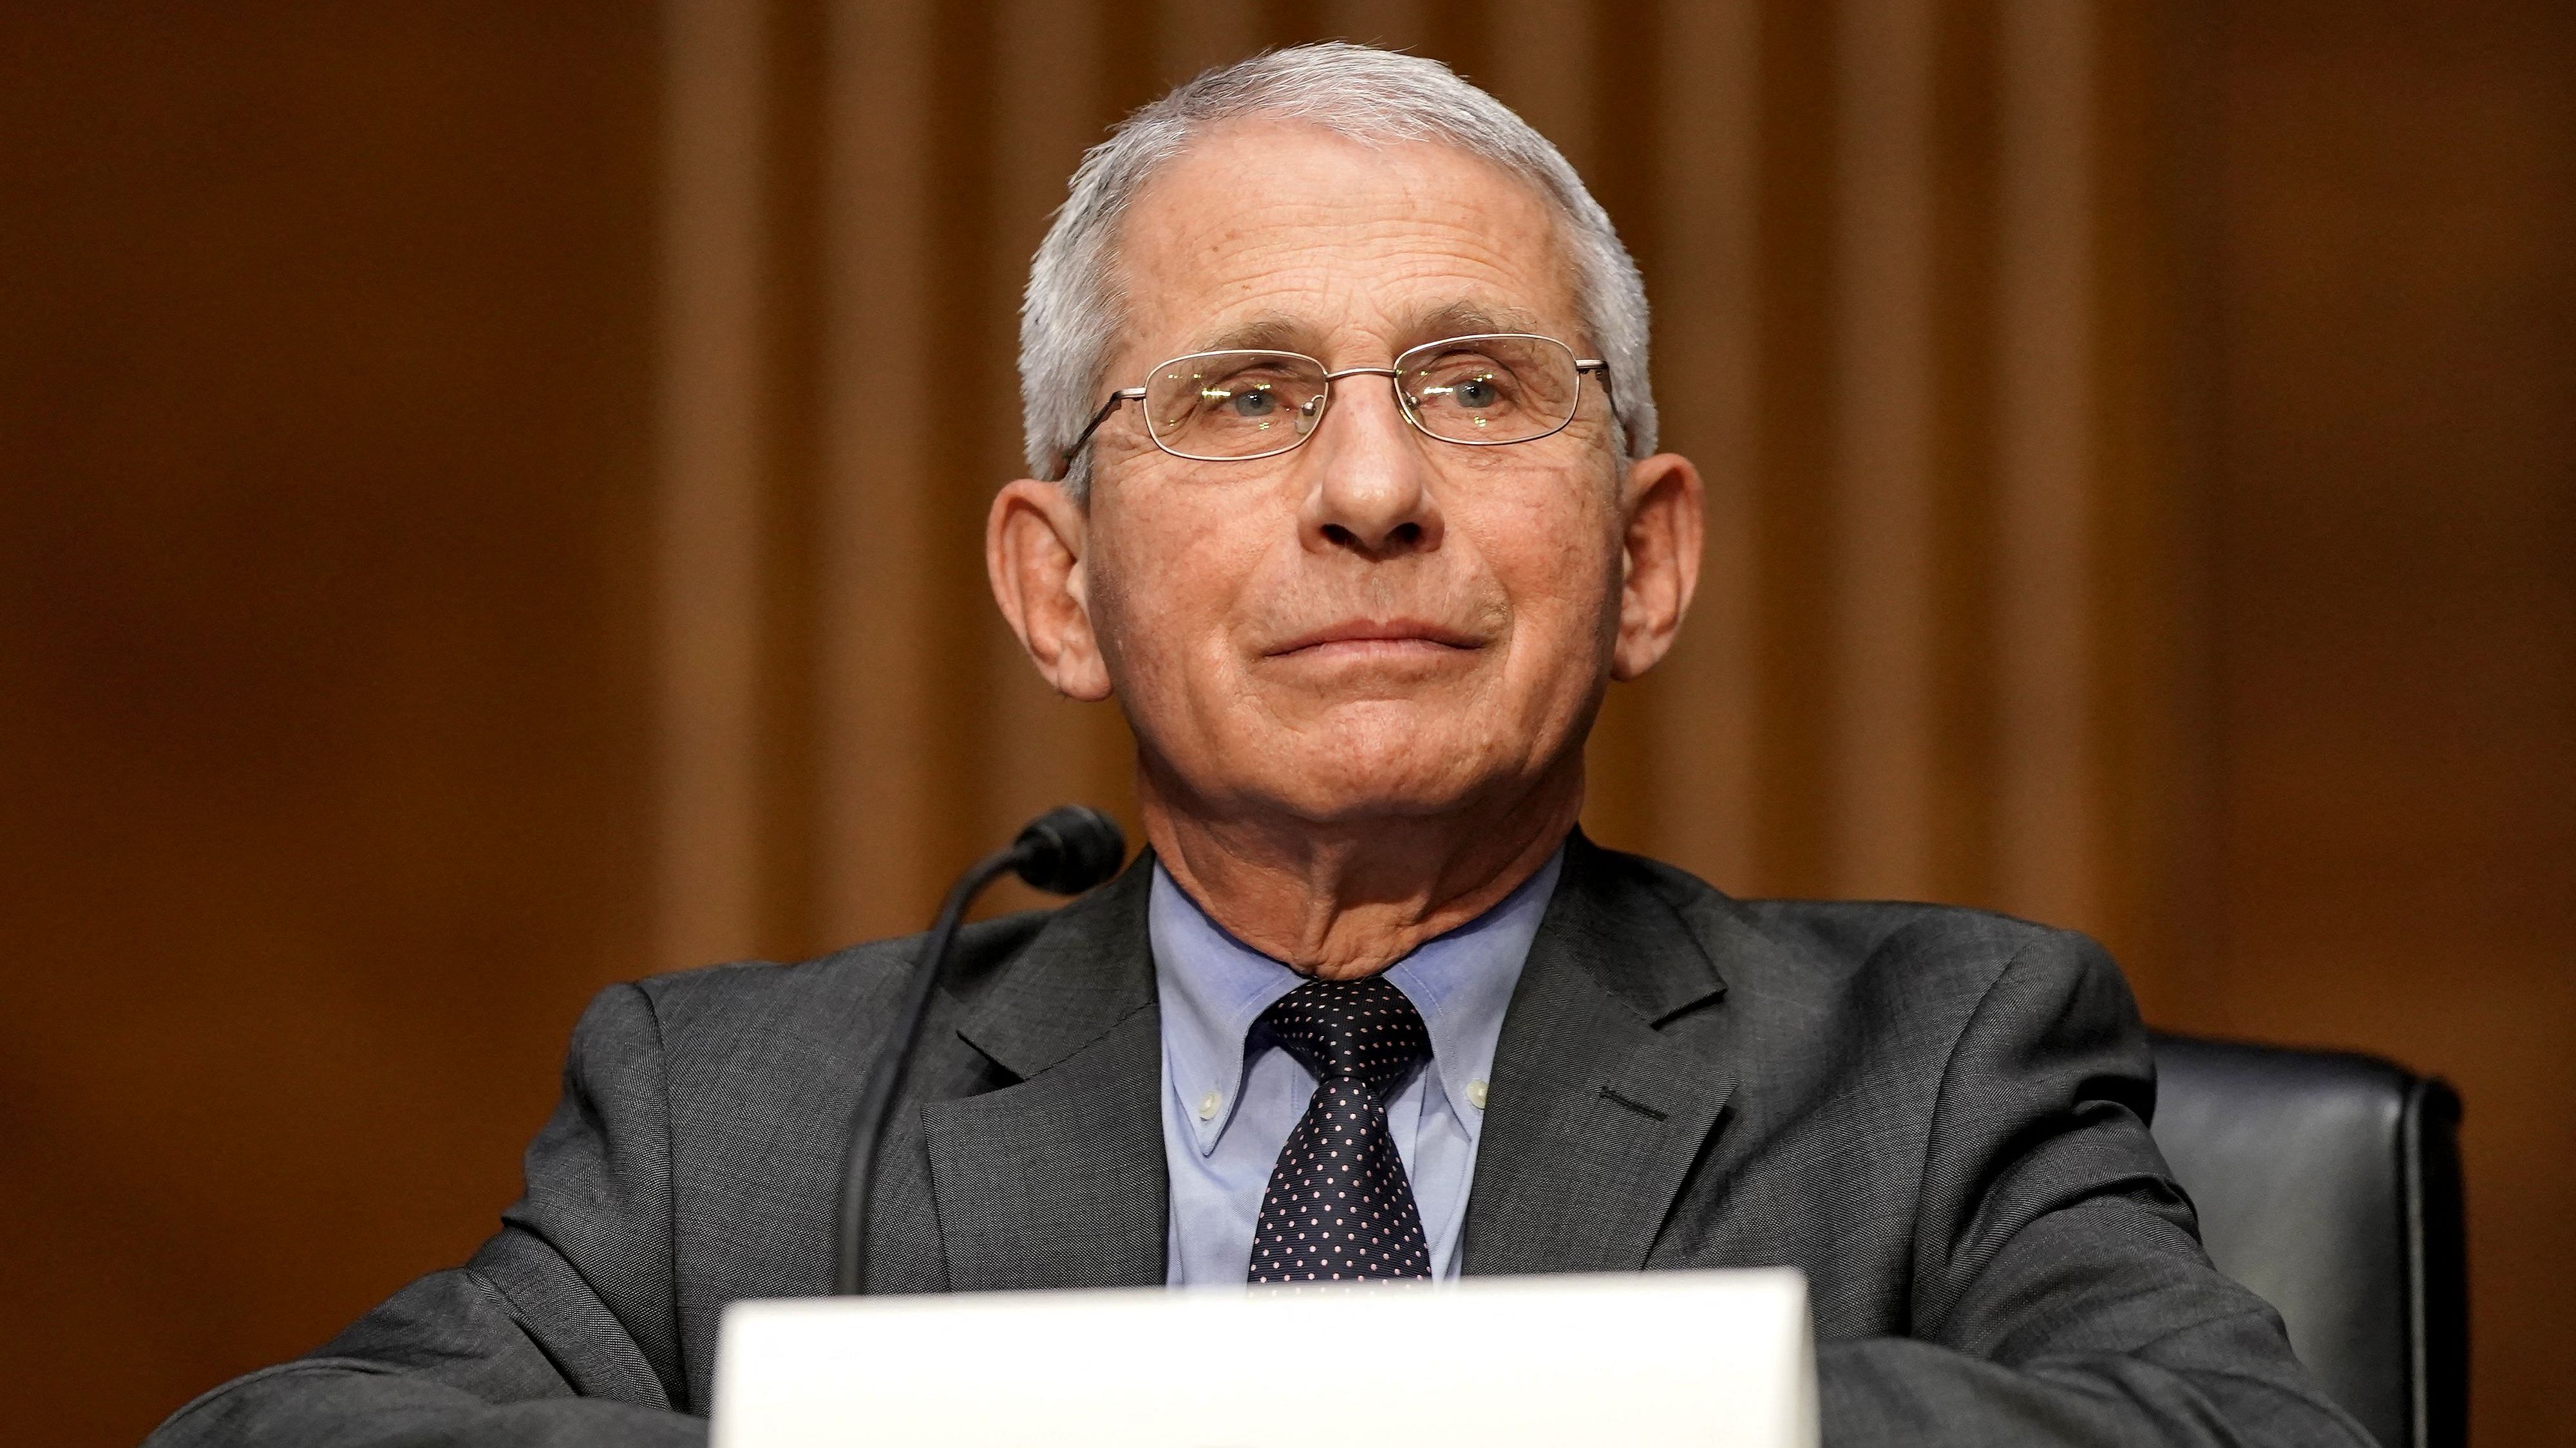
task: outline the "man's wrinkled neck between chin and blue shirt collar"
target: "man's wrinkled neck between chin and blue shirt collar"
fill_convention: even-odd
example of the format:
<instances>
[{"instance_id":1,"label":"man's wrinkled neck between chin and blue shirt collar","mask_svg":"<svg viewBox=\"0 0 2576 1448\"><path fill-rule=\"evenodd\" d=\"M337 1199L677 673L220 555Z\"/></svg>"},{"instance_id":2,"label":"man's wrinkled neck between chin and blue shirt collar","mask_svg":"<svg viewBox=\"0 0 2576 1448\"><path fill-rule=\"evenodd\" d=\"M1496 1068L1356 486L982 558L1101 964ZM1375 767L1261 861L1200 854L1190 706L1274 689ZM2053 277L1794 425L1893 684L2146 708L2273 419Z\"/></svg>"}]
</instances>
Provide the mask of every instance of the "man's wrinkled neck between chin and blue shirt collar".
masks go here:
<instances>
[{"instance_id":1,"label":"man's wrinkled neck between chin and blue shirt collar","mask_svg":"<svg viewBox=\"0 0 2576 1448\"><path fill-rule=\"evenodd\" d=\"M1154 858L1218 925L1316 979L1383 971L1548 863L1584 804L1582 752L1437 817L1288 819L1200 809L1151 760L1136 801Z\"/></svg>"}]
</instances>

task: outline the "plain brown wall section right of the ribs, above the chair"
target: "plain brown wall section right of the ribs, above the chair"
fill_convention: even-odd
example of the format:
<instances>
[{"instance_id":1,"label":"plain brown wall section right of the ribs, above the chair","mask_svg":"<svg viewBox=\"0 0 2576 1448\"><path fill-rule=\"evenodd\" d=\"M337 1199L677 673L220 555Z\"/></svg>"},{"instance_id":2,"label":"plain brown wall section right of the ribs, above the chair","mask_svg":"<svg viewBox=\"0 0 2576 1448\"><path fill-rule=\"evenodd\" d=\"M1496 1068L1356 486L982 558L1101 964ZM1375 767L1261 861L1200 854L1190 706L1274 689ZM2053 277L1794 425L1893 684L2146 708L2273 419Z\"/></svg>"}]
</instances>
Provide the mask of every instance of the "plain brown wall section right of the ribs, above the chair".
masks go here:
<instances>
[{"instance_id":1,"label":"plain brown wall section right of the ribs, above the chair","mask_svg":"<svg viewBox=\"0 0 2576 1448\"><path fill-rule=\"evenodd\" d=\"M2177 1023L2468 1103L2473 1435L2576 1440L2576 8L2244 5L2208 77Z\"/></svg>"}]
</instances>

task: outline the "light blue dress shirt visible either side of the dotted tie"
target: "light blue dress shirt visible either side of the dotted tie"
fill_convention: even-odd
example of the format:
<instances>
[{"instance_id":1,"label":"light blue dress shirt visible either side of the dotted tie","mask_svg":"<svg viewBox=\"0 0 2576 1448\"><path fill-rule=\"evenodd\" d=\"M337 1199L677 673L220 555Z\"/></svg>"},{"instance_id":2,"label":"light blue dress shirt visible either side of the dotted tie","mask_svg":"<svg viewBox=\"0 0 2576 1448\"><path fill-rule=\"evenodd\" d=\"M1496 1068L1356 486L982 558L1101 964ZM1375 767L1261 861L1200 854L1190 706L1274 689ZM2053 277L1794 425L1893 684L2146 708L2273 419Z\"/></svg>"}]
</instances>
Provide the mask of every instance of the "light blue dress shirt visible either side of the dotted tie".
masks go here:
<instances>
[{"instance_id":1,"label":"light blue dress shirt visible either side of the dotted tie","mask_svg":"<svg viewBox=\"0 0 2576 1448\"><path fill-rule=\"evenodd\" d=\"M1430 1067L1386 1100L1386 1131L1414 1185L1440 1281L1458 1275L1484 1082L1561 866L1564 850L1502 904L1386 971L1432 1041ZM1255 1023L1306 976L1226 935L1159 863L1146 930L1162 1005L1162 1154L1172 1175L1164 1281L1242 1286L1270 1167L1314 1098L1314 1072Z\"/></svg>"}]
</instances>

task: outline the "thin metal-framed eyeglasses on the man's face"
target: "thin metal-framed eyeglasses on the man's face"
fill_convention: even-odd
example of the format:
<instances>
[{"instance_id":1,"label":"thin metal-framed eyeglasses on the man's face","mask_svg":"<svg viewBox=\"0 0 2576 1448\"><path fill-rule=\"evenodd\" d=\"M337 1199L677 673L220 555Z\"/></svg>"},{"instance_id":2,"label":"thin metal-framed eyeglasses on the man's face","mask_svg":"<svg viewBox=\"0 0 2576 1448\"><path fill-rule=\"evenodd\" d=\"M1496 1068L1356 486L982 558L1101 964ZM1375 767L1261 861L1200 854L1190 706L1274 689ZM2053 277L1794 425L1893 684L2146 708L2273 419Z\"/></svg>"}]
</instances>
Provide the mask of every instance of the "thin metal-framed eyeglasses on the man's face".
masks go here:
<instances>
[{"instance_id":1,"label":"thin metal-framed eyeglasses on the man's face","mask_svg":"<svg viewBox=\"0 0 2576 1448\"><path fill-rule=\"evenodd\" d=\"M1587 374L1600 374L1602 397L1610 397L1610 363L1525 332L1443 338L1406 350L1396 366L1342 371L1324 371L1303 353L1190 353L1159 363L1144 386L1113 392L1064 448L1056 477L1074 469L1074 456L1121 402L1144 405L1146 435L1175 459L1234 464L1273 459L1311 438L1332 405L1334 381L1383 376L1404 420L1425 438L1497 448L1566 430Z\"/></svg>"}]
</instances>

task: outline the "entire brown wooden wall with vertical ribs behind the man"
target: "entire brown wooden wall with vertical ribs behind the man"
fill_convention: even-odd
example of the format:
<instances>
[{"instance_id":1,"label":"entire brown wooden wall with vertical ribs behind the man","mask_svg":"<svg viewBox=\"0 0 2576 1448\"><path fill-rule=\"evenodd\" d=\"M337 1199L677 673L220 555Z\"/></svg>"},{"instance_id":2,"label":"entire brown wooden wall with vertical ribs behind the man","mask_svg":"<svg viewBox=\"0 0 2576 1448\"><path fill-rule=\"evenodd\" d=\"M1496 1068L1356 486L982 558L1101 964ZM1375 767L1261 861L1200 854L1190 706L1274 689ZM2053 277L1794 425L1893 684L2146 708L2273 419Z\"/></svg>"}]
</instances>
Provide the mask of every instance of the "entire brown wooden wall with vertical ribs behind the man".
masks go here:
<instances>
[{"instance_id":1,"label":"entire brown wooden wall with vertical ribs behind the man","mask_svg":"<svg viewBox=\"0 0 2576 1448\"><path fill-rule=\"evenodd\" d=\"M1716 528L1595 832L2450 1074L2478 1440L2576 1430L2558 5L273 0L0 10L26 1438L464 1255L598 984L1126 809L984 600L1012 299L1105 121L1324 33L1492 85L1646 265Z\"/></svg>"}]
</instances>

